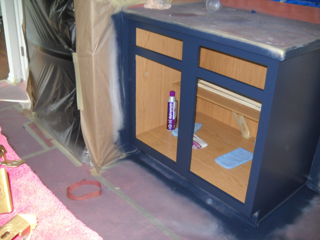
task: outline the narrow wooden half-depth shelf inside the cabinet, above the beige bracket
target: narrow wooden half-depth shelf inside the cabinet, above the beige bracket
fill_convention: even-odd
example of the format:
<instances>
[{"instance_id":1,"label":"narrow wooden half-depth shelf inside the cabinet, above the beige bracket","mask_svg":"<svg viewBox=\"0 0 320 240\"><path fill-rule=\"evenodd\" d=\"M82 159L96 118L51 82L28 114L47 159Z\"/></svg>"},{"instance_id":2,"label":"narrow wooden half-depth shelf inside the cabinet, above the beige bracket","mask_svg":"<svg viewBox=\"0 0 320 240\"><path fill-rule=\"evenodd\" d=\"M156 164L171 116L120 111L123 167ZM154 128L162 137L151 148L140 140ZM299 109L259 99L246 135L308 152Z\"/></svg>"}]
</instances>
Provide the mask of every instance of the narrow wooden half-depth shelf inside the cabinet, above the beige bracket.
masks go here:
<instances>
[{"instance_id":1,"label":"narrow wooden half-depth shelf inside the cabinet, above the beige bracket","mask_svg":"<svg viewBox=\"0 0 320 240\"><path fill-rule=\"evenodd\" d=\"M180 86L181 82L173 83L172 86L181 88ZM255 122L259 122L260 117L260 111L250 108L248 106L245 106L241 103L235 102L233 100L230 100L228 98L225 98L217 93L210 92L206 89L203 89L201 87L197 88L197 97L204 99L206 101L212 102L214 104L217 104L223 108L226 108L230 111L234 111L238 114L241 114L247 118L250 118L251 120Z\"/></svg>"}]
</instances>

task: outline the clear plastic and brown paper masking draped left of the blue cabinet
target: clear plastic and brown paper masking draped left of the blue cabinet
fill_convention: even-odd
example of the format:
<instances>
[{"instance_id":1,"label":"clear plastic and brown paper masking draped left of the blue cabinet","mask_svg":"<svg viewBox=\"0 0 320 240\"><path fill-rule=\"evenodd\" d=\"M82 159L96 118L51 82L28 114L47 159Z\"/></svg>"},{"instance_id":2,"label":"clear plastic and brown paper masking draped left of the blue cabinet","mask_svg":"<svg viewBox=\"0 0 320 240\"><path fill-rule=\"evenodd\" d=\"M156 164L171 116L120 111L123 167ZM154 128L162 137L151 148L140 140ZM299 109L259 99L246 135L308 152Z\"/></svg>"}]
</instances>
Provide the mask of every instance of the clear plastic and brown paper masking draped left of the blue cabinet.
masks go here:
<instances>
[{"instance_id":1,"label":"clear plastic and brown paper masking draped left of the blue cabinet","mask_svg":"<svg viewBox=\"0 0 320 240\"><path fill-rule=\"evenodd\" d=\"M34 116L99 172L137 150L126 137L119 33L122 7L145 2L24 1Z\"/></svg>"}]
</instances>

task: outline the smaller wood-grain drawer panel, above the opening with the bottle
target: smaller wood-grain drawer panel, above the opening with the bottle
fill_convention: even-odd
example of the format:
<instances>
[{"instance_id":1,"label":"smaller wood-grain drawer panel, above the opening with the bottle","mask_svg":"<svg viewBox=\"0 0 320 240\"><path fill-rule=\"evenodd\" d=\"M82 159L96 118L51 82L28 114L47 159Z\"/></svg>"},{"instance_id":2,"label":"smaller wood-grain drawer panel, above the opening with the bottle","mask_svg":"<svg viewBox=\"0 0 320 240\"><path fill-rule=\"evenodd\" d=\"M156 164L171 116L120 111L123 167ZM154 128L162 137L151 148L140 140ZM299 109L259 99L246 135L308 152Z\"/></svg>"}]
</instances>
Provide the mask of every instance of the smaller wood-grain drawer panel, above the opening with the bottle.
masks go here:
<instances>
[{"instance_id":1,"label":"smaller wood-grain drawer panel, above the opening with the bottle","mask_svg":"<svg viewBox=\"0 0 320 240\"><path fill-rule=\"evenodd\" d=\"M136 45L182 60L182 41L136 28Z\"/></svg>"}]
</instances>

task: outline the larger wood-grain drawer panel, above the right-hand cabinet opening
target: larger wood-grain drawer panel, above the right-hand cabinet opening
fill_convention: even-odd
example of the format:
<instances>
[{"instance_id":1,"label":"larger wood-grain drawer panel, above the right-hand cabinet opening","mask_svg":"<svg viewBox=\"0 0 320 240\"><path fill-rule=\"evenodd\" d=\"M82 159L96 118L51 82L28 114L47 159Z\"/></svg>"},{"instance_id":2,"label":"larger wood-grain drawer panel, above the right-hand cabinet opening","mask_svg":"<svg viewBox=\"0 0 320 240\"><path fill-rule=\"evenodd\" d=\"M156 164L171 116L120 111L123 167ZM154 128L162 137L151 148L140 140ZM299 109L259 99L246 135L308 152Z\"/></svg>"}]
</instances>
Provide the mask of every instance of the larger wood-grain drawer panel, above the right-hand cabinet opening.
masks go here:
<instances>
[{"instance_id":1,"label":"larger wood-grain drawer panel, above the right-hand cabinet opening","mask_svg":"<svg viewBox=\"0 0 320 240\"><path fill-rule=\"evenodd\" d=\"M263 65L200 47L199 67L264 89L267 67Z\"/></svg>"}]
</instances>

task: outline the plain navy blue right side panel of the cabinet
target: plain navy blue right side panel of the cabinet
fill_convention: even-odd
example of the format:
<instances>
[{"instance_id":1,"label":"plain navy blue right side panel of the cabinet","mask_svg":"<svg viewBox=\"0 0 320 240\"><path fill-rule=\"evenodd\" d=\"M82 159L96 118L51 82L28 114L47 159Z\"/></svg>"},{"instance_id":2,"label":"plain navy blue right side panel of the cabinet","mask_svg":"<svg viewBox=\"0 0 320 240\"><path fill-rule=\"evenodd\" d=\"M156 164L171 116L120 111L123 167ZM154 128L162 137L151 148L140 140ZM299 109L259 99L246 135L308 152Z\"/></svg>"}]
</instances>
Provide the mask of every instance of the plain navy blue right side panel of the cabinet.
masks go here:
<instances>
[{"instance_id":1,"label":"plain navy blue right side panel of the cabinet","mask_svg":"<svg viewBox=\"0 0 320 240\"><path fill-rule=\"evenodd\" d=\"M252 213L272 211L306 183L320 132L320 51L279 63Z\"/></svg>"}]
</instances>

